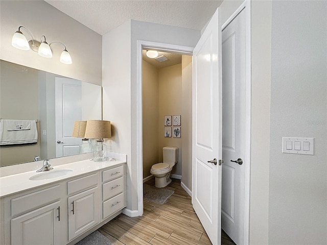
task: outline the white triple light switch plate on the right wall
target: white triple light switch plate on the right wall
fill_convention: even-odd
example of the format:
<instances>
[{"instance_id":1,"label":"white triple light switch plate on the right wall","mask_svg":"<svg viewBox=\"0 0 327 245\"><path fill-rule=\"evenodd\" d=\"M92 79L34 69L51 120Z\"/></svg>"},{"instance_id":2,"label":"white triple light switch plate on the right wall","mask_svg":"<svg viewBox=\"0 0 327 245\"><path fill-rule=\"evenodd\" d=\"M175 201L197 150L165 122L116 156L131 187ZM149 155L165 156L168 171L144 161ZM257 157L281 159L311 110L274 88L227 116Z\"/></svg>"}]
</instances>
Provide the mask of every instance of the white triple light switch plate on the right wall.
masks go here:
<instances>
[{"instance_id":1,"label":"white triple light switch plate on the right wall","mask_svg":"<svg viewBox=\"0 0 327 245\"><path fill-rule=\"evenodd\" d=\"M282 153L313 155L314 138L283 137ZM292 147L290 148L290 145Z\"/></svg>"}]
</instances>

